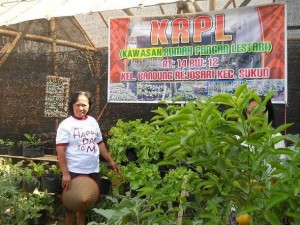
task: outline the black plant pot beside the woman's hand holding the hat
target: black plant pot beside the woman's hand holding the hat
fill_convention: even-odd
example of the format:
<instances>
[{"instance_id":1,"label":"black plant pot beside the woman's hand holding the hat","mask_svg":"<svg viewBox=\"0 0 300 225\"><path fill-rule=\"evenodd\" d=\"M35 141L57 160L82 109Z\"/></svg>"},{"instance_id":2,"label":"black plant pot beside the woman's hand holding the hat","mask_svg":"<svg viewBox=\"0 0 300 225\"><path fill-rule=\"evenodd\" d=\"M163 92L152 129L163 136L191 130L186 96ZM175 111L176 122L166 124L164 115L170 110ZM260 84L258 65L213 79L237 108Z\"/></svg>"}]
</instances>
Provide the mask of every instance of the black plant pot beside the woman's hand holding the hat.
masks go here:
<instances>
[{"instance_id":1,"label":"black plant pot beside the woman's hand holding the hat","mask_svg":"<svg viewBox=\"0 0 300 225\"><path fill-rule=\"evenodd\" d=\"M59 194L62 192L61 175L47 173L42 175L42 190L48 193Z\"/></svg>"}]
</instances>

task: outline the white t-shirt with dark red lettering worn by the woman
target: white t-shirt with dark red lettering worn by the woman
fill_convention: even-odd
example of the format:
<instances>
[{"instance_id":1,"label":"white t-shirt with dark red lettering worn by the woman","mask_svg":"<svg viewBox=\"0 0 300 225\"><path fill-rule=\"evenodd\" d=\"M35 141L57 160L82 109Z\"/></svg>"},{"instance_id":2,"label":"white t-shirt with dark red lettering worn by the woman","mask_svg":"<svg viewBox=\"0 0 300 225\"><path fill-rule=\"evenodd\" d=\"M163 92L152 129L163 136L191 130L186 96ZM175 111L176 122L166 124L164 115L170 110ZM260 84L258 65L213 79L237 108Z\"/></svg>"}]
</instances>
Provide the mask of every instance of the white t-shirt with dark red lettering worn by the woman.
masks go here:
<instances>
[{"instance_id":1,"label":"white t-shirt with dark red lettering worn by the woman","mask_svg":"<svg viewBox=\"0 0 300 225\"><path fill-rule=\"evenodd\" d=\"M95 118L76 119L70 116L57 129L56 145L66 145L67 166L70 172L89 174L99 172L99 146L103 140Z\"/></svg>"}]
</instances>

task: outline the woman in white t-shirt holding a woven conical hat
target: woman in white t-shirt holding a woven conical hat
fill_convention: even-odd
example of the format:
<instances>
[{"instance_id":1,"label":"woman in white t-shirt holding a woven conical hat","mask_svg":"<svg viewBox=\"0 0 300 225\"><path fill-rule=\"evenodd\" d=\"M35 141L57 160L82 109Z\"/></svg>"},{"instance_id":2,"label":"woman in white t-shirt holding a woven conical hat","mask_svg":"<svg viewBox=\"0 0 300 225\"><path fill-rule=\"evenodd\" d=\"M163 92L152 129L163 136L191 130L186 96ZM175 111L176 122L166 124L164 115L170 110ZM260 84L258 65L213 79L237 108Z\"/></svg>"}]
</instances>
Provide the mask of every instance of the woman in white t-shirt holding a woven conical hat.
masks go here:
<instances>
[{"instance_id":1,"label":"woman in white t-shirt holding a woven conical hat","mask_svg":"<svg viewBox=\"0 0 300 225\"><path fill-rule=\"evenodd\" d=\"M71 179L88 175L99 184L99 153L115 172L119 166L111 158L97 121L88 115L93 102L86 91L75 93L69 102L71 116L64 119L56 135L56 152L62 171L62 187L69 189ZM77 212L77 225L84 225L87 212ZM66 225L73 225L76 212L66 209Z\"/></svg>"}]
</instances>

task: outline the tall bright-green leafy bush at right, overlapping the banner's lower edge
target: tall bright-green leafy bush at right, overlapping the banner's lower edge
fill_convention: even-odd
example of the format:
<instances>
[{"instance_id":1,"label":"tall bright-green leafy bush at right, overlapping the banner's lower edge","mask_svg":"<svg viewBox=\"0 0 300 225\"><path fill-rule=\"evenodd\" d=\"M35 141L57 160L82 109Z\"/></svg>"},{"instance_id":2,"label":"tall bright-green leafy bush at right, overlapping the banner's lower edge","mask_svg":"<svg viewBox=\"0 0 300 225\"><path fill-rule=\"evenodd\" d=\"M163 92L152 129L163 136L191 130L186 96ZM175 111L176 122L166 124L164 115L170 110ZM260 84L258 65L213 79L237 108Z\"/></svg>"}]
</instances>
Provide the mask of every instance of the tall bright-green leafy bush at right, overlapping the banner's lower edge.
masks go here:
<instances>
[{"instance_id":1,"label":"tall bright-green leafy bush at right, overlapping the banner's lower edge","mask_svg":"<svg viewBox=\"0 0 300 225\"><path fill-rule=\"evenodd\" d=\"M219 94L201 102L188 102L176 111L168 107L156 111L160 117L152 124L166 131L160 146L165 152L164 163L186 165L198 173L187 184L195 199L189 204L201 212L194 215L194 220L226 224L233 207L237 215L253 215L254 224L279 224L287 215L297 214L299 205L288 200L291 195L294 201L299 199L293 185L285 186L288 193L283 194L270 182L274 176L276 184L292 179L283 165L290 163L287 158L299 154L290 148L274 147L287 139L276 134L291 124L273 128L268 123L263 112L272 95L271 92L262 100L244 84L233 95ZM247 118L245 112L252 98L260 104ZM281 160L280 155L286 155L286 160ZM293 182L299 182L299 177L297 181L294 177L298 175L293 176ZM257 191L257 183L262 191Z\"/></svg>"}]
</instances>

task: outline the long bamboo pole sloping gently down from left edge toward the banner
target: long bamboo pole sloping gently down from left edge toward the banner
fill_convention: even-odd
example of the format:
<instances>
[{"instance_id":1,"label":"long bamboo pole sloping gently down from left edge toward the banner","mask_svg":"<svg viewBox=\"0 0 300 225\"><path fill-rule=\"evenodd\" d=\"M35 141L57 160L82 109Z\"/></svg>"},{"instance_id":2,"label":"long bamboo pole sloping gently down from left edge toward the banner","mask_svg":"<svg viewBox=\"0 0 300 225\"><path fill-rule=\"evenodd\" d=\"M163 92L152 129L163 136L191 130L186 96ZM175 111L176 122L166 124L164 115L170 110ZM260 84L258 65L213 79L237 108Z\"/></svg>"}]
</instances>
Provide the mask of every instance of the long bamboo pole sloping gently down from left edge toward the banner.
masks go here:
<instances>
[{"instance_id":1,"label":"long bamboo pole sloping gently down from left edge toward the banner","mask_svg":"<svg viewBox=\"0 0 300 225\"><path fill-rule=\"evenodd\" d=\"M17 36L19 34L19 32L0 29L0 34L2 34L4 36L10 36L10 37L13 36L14 37L14 36ZM48 43L48 44L52 44L53 42L55 42L57 45L60 45L60 46L71 47L71 48L76 48L76 49L80 49L80 50L97 51L96 48L91 47L91 46L81 45L81 44L66 41L66 40L53 39L53 38L34 35L34 34L25 34L23 38L31 40L31 41L44 42L44 43Z\"/></svg>"}]
</instances>

